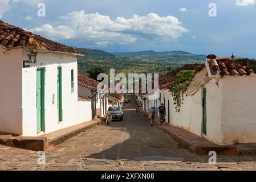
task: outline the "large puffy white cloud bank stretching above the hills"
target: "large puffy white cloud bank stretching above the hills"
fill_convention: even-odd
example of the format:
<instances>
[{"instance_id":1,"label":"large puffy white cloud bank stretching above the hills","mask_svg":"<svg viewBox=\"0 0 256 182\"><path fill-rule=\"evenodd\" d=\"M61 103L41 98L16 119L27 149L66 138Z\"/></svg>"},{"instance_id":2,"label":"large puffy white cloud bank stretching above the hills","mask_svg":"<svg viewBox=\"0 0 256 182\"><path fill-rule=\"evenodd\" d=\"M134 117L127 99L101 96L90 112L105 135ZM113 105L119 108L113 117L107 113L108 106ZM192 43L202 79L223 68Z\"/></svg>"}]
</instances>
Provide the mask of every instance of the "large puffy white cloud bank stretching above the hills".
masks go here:
<instances>
[{"instance_id":1,"label":"large puffy white cloud bank stretching above the hills","mask_svg":"<svg viewBox=\"0 0 256 182\"><path fill-rule=\"evenodd\" d=\"M60 17L61 26L44 24L30 31L51 39L84 39L97 45L129 44L138 39L177 39L188 30L174 16L160 17L133 15L130 19L115 20L99 13L86 14L84 10L73 11ZM63 33L65 32L65 33Z\"/></svg>"}]
</instances>

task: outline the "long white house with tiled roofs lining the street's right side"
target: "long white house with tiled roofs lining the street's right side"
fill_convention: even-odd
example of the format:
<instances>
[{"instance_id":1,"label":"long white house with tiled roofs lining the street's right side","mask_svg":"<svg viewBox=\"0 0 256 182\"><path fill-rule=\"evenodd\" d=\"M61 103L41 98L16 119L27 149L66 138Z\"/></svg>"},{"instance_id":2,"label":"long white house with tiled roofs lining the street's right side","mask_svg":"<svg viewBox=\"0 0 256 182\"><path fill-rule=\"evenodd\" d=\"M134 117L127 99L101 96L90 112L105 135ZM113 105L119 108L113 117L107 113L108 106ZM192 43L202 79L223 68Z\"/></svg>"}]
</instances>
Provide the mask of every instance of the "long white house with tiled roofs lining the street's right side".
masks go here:
<instances>
[{"instance_id":1,"label":"long white house with tiled roofs lining the street's right side","mask_svg":"<svg viewBox=\"0 0 256 182\"><path fill-rule=\"evenodd\" d=\"M196 71L184 90L180 112L169 89L182 70ZM221 145L256 142L256 61L209 55L205 65L187 64L159 78L156 100L144 96L145 108L166 107L166 122Z\"/></svg>"}]
</instances>

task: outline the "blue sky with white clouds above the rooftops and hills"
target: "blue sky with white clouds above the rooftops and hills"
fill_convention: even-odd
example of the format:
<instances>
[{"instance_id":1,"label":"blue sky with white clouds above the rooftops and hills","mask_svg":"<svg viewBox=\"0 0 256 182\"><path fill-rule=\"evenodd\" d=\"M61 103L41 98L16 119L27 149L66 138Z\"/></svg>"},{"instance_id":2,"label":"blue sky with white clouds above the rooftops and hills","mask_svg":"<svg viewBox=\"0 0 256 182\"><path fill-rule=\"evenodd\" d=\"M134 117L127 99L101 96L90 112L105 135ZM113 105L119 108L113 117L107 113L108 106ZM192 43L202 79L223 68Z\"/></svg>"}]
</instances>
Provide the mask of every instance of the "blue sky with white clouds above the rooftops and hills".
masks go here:
<instances>
[{"instance_id":1,"label":"blue sky with white clouds above the rooftops and hills","mask_svg":"<svg viewBox=\"0 0 256 182\"><path fill-rule=\"evenodd\" d=\"M0 19L73 47L256 58L256 0L0 0Z\"/></svg>"}]
</instances>

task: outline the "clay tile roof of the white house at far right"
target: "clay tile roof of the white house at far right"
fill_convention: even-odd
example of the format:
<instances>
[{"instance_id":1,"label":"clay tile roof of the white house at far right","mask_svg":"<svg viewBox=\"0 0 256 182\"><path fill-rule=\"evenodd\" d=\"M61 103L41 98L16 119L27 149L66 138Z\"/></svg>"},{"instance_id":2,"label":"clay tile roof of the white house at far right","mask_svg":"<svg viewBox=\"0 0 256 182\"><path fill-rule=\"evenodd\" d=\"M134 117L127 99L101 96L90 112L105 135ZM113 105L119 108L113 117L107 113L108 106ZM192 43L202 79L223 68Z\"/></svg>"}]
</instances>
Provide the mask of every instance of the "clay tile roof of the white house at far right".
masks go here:
<instances>
[{"instance_id":1,"label":"clay tile roof of the white house at far right","mask_svg":"<svg viewBox=\"0 0 256 182\"><path fill-rule=\"evenodd\" d=\"M220 75L226 76L249 76L251 73L256 73L256 61L250 59L216 59ZM210 64L210 69L213 69L213 64Z\"/></svg>"}]
</instances>

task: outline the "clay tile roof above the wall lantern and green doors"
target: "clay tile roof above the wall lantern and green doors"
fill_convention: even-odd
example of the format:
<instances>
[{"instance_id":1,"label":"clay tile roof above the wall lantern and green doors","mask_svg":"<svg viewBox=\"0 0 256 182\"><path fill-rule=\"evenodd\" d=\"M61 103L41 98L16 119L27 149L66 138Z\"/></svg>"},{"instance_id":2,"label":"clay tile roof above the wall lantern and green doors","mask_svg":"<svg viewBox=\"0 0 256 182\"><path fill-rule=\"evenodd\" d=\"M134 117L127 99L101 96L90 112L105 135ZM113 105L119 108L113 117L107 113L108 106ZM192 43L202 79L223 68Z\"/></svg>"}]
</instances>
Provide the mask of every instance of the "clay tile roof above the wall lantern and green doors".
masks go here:
<instances>
[{"instance_id":1,"label":"clay tile roof above the wall lantern and green doors","mask_svg":"<svg viewBox=\"0 0 256 182\"><path fill-rule=\"evenodd\" d=\"M78 49L64 46L63 44L43 38L40 35L15 27L0 20L0 45L6 48L27 47L40 51L69 53L74 55L86 55Z\"/></svg>"}]
</instances>

